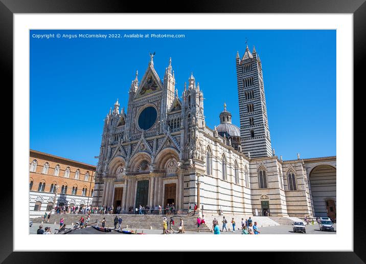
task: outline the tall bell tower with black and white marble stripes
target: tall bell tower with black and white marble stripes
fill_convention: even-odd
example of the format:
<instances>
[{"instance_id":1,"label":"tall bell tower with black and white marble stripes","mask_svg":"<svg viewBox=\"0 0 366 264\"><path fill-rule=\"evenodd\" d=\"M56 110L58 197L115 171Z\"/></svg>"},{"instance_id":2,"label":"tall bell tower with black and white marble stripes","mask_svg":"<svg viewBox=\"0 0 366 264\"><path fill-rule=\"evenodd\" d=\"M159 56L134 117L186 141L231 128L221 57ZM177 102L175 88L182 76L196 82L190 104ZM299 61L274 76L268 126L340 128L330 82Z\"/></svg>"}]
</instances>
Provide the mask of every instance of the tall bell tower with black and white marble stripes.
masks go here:
<instances>
[{"instance_id":1,"label":"tall bell tower with black and white marble stripes","mask_svg":"<svg viewBox=\"0 0 366 264\"><path fill-rule=\"evenodd\" d=\"M256 49L253 54L246 46L240 59L236 56L238 80L241 148L250 158L272 156L268 128L266 98L262 74L262 63ZM248 152L250 154L248 155Z\"/></svg>"}]
</instances>

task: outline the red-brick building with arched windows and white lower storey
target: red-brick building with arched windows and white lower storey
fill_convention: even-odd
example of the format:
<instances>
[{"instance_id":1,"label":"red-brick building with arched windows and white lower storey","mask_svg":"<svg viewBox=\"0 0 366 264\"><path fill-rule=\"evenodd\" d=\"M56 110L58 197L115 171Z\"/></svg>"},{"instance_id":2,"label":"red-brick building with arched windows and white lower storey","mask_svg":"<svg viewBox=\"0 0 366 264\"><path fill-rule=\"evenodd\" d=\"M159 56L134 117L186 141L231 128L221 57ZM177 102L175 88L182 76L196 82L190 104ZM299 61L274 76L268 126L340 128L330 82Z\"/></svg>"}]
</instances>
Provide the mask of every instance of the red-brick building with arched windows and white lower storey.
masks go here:
<instances>
[{"instance_id":1,"label":"red-brick building with arched windows and white lower storey","mask_svg":"<svg viewBox=\"0 0 366 264\"><path fill-rule=\"evenodd\" d=\"M91 205L95 170L93 165L31 149L30 217L49 213L55 205Z\"/></svg>"}]
</instances>

